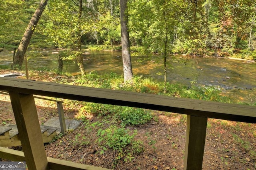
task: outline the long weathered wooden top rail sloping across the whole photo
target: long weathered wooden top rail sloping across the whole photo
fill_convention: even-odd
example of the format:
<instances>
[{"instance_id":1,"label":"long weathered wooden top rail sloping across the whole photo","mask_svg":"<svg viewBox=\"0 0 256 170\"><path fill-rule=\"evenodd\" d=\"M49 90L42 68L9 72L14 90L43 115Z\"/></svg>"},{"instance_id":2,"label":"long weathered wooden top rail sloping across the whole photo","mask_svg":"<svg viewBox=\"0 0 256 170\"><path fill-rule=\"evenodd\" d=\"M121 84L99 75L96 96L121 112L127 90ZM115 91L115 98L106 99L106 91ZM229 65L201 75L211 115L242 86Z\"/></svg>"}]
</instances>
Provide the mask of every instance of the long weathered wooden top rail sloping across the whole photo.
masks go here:
<instances>
[{"instance_id":1,"label":"long weathered wooden top rail sloping across the whole photo","mask_svg":"<svg viewBox=\"0 0 256 170\"><path fill-rule=\"evenodd\" d=\"M50 82L0 78L0 90L102 104L140 107L199 117L256 123L256 107Z\"/></svg>"}]
</instances>

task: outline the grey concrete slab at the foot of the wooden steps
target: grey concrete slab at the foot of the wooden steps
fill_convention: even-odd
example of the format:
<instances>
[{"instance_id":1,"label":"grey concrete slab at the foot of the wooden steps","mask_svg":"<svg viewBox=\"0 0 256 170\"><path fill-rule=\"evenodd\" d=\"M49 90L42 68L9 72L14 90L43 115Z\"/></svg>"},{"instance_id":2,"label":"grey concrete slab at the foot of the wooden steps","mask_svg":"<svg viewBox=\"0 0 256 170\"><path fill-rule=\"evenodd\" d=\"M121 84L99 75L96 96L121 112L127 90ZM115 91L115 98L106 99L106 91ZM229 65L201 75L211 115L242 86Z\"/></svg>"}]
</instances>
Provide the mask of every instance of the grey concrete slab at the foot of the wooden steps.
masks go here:
<instances>
[{"instance_id":1,"label":"grey concrete slab at the foot of the wooden steps","mask_svg":"<svg viewBox=\"0 0 256 170\"><path fill-rule=\"evenodd\" d=\"M73 131L74 129L76 129L82 123L81 120L76 120L76 119L65 119L65 122L66 122L67 131ZM44 123L44 125L51 126L51 127L56 127L57 128L56 132L57 133L61 132L60 120L59 120L59 117L57 117L57 116L52 117L51 119L46 121Z\"/></svg>"}]
</instances>

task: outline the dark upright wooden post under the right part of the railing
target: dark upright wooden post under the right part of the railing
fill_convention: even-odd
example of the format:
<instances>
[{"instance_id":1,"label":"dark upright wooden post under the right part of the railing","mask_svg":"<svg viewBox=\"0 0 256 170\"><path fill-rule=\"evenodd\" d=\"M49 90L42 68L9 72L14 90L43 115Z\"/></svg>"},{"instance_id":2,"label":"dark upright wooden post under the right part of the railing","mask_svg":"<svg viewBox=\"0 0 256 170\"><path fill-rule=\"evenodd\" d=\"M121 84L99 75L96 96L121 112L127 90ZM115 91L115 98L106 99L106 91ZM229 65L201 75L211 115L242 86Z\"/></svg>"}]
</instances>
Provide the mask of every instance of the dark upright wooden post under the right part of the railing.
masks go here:
<instances>
[{"instance_id":1,"label":"dark upright wooden post under the right part of the railing","mask_svg":"<svg viewBox=\"0 0 256 170\"><path fill-rule=\"evenodd\" d=\"M207 117L188 115L184 170L202 170Z\"/></svg>"}]
</instances>

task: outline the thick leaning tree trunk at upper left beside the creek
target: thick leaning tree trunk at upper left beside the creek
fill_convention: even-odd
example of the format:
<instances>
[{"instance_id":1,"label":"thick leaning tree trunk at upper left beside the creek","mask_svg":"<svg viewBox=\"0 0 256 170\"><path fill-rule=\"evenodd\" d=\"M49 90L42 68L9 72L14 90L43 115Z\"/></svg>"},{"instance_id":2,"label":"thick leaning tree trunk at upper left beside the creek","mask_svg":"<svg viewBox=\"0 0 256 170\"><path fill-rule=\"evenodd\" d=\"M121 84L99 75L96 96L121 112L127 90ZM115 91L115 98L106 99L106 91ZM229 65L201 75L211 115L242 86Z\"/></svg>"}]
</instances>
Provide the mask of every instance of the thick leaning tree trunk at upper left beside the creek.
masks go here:
<instances>
[{"instance_id":1,"label":"thick leaning tree trunk at upper left beside the creek","mask_svg":"<svg viewBox=\"0 0 256 170\"><path fill-rule=\"evenodd\" d=\"M34 30L36 28L36 25L42 15L42 13L44 12L44 8L47 5L48 0L41 0L38 8L36 9L34 15L32 16L28 27L26 28L26 31L22 37L22 40L20 41L20 45L18 47L17 53L14 57L14 61L12 63L11 68L12 69L21 69L22 67L22 63L24 61L24 55L26 54L27 48L28 48L28 44L30 42L30 39L34 33Z\"/></svg>"}]
</instances>

